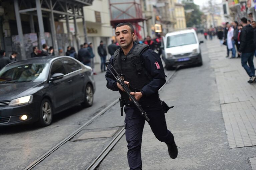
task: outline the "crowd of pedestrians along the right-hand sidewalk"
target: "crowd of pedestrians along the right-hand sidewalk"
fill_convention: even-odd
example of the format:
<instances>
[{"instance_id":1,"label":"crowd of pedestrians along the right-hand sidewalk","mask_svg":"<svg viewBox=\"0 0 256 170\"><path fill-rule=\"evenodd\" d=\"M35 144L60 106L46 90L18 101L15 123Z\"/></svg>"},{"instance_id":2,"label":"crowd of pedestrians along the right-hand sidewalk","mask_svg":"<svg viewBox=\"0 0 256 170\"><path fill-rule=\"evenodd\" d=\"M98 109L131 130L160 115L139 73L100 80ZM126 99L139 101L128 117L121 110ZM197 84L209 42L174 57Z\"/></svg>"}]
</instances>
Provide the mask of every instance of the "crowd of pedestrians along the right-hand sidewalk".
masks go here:
<instances>
[{"instance_id":1,"label":"crowd of pedestrians along the right-hand sidewalk","mask_svg":"<svg viewBox=\"0 0 256 170\"><path fill-rule=\"evenodd\" d=\"M209 35L210 34L210 35ZM245 17L240 19L240 24L237 21L226 22L225 27L211 28L204 32L205 39L211 40L211 35L217 35L221 45L227 46L227 58L230 55L233 58L241 58L242 67L249 75L248 83L255 83L255 67L253 63L254 56L256 57L256 22L247 20ZM237 53L237 55L236 55Z\"/></svg>"}]
</instances>

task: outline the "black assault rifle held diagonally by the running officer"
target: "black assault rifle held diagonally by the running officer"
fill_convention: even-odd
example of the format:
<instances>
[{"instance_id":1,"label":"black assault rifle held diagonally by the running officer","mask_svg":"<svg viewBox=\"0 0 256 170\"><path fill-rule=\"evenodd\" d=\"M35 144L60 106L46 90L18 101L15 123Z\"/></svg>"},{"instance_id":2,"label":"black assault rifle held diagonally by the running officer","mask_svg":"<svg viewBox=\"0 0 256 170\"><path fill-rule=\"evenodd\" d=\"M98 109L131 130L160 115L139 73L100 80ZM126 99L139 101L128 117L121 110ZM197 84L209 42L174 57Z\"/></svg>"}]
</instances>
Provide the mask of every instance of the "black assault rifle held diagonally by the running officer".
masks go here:
<instances>
[{"instance_id":1,"label":"black assault rifle held diagonally by the running officer","mask_svg":"<svg viewBox=\"0 0 256 170\"><path fill-rule=\"evenodd\" d=\"M130 93L132 92L129 87L124 83L124 80L121 76L119 76L119 74L116 72L116 70L114 69L114 67L112 66L112 64L107 61L105 63L106 67L108 68L108 65L110 65L111 68L108 68L110 73L114 76L114 78L117 80L117 82L122 86L124 92L130 97L130 99L133 101L133 103L135 104L135 106L139 109L139 111L141 112L141 115L147 120L147 122L150 121L147 113L143 110L143 108L141 107L140 103L135 99L134 95L131 95ZM112 72L112 70L114 71L114 73ZM120 100L120 99L119 99ZM120 101L120 105L121 105L121 101ZM121 105L121 115L122 115L122 107L123 105Z\"/></svg>"}]
</instances>

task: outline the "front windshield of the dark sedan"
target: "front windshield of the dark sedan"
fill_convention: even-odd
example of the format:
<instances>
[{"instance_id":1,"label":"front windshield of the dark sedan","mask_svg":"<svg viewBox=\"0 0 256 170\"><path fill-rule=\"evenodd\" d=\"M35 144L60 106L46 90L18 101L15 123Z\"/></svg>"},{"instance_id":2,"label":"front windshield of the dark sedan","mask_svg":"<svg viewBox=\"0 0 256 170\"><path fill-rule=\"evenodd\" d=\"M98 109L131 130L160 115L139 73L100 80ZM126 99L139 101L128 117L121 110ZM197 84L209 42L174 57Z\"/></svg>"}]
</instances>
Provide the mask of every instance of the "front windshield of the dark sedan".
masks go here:
<instances>
[{"instance_id":1,"label":"front windshield of the dark sedan","mask_svg":"<svg viewBox=\"0 0 256 170\"><path fill-rule=\"evenodd\" d=\"M0 70L0 83L38 82L47 78L48 64L8 65Z\"/></svg>"}]
</instances>

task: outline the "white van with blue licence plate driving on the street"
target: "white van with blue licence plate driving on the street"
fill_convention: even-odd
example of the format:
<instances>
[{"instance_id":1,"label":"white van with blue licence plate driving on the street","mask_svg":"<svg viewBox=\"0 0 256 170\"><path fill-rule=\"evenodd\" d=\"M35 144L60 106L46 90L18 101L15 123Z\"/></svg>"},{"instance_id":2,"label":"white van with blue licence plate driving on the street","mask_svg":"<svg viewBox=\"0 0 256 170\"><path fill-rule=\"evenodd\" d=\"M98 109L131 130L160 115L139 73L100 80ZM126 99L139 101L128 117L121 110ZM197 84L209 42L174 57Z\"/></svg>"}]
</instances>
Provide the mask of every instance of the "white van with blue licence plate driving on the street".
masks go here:
<instances>
[{"instance_id":1,"label":"white van with blue licence plate driving on the street","mask_svg":"<svg viewBox=\"0 0 256 170\"><path fill-rule=\"evenodd\" d=\"M186 29L167 33L164 40L163 60L167 69L179 65L202 65L200 44L194 29Z\"/></svg>"}]
</instances>

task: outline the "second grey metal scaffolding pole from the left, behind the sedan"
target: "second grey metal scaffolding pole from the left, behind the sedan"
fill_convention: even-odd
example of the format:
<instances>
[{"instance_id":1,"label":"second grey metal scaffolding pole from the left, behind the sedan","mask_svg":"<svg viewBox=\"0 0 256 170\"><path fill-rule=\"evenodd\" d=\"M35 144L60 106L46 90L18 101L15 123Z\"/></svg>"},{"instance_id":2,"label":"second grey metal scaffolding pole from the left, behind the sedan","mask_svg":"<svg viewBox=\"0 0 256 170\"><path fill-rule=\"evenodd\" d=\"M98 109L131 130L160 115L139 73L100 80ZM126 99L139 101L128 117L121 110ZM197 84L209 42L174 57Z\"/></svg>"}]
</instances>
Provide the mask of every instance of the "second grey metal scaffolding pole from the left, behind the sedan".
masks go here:
<instances>
[{"instance_id":1,"label":"second grey metal scaffolding pole from the left, behind the sedan","mask_svg":"<svg viewBox=\"0 0 256 170\"><path fill-rule=\"evenodd\" d=\"M40 33L39 49L42 49L42 45L45 44L46 41L44 37L44 26L43 26L41 2L40 0L35 0L35 1L36 1L36 12L37 12L38 25L39 25L39 33Z\"/></svg>"}]
</instances>

